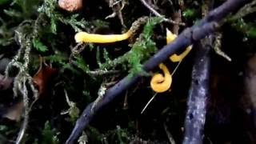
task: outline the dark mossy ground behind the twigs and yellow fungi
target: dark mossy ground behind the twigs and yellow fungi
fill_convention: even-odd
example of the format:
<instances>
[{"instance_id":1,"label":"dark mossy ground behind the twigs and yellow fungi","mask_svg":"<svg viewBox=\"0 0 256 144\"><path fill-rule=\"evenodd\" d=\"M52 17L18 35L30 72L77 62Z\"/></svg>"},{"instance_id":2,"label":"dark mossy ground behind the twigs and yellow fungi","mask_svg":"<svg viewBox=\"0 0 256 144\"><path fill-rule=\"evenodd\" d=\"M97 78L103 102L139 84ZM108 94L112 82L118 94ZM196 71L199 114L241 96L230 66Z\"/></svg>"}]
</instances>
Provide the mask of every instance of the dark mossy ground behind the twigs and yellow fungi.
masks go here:
<instances>
[{"instance_id":1,"label":"dark mossy ground behind the twigs and yellow fungi","mask_svg":"<svg viewBox=\"0 0 256 144\"><path fill-rule=\"evenodd\" d=\"M23 82L23 87L16 89L16 97L11 87L0 90L0 143L14 142L18 135L24 118L16 122L4 115L10 107L24 99L22 90L28 91L29 106L37 99L35 96L38 93L31 90L31 80L39 67L45 65L41 59L56 71L53 74L43 72L39 78L45 83L41 85L43 91L39 91L38 100L30 110L23 143L65 142L79 114L88 103L98 98L101 87L107 89L127 74L138 73L146 77L96 115L84 130L83 141L168 143L166 126L176 143L182 142L194 50L175 72L171 89L157 94L141 114L143 107L154 96L150 88L153 72L145 73L141 66L166 45L166 28L171 30L173 25L153 17L140 1L122 2L126 3L122 9L126 27L122 26L118 16L106 19L113 10L104 0L84 0L82 10L75 12L61 10L55 0L0 0L0 73L6 74L7 63L20 53L14 59L19 67L10 66L7 73L13 77L19 75L19 79L14 80L14 86L15 82ZM180 31L202 18L202 1L150 2L166 18L182 10L182 22L186 26L180 26ZM222 2L216 1L216 6ZM74 34L78 31L121 34L143 16L149 19L139 26L130 40L76 47ZM252 122L244 108L246 102L241 99L246 62L255 54L255 30L255 14L235 19L219 30L222 33L221 49L232 58L232 62L214 52L212 54L206 143L253 142L255 130L251 129ZM6 59L8 62L4 62ZM170 61L165 63L170 70L177 66ZM154 70L157 71L158 68ZM82 137L80 139L82 142Z\"/></svg>"}]
</instances>

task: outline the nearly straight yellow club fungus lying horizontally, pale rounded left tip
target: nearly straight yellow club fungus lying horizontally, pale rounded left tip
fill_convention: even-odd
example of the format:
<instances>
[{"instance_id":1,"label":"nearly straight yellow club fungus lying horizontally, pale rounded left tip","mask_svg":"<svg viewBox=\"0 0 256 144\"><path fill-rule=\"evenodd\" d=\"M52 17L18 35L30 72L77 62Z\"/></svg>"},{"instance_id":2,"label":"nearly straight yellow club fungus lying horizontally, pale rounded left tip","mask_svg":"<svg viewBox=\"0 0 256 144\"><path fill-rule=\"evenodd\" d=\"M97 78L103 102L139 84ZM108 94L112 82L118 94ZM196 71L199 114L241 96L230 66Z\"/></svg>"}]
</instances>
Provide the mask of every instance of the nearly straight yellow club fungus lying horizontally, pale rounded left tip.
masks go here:
<instances>
[{"instance_id":1,"label":"nearly straight yellow club fungus lying horizontally, pale rounded left tip","mask_svg":"<svg viewBox=\"0 0 256 144\"><path fill-rule=\"evenodd\" d=\"M130 30L125 34L89 34L82 31L75 34L74 39L75 42L110 43L128 39L130 35Z\"/></svg>"}]
</instances>

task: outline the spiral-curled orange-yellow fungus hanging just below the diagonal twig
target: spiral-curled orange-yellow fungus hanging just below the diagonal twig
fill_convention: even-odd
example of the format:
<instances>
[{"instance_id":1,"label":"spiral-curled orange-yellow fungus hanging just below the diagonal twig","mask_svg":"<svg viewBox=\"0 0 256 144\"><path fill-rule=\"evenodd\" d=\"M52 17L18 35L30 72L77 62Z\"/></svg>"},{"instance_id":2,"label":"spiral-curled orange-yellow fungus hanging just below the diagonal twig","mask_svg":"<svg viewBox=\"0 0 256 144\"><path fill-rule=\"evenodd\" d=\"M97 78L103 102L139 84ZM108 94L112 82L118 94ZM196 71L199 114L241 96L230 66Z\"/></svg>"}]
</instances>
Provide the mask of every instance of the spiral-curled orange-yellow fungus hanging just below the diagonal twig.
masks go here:
<instances>
[{"instance_id":1,"label":"spiral-curled orange-yellow fungus hanging just below the diagonal twig","mask_svg":"<svg viewBox=\"0 0 256 144\"><path fill-rule=\"evenodd\" d=\"M170 89L172 77L168 68L163 63L159 65L159 68L163 71L164 75L154 74L151 78L150 86L155 92L162 93Z\"/></svg>"}]
</instances>

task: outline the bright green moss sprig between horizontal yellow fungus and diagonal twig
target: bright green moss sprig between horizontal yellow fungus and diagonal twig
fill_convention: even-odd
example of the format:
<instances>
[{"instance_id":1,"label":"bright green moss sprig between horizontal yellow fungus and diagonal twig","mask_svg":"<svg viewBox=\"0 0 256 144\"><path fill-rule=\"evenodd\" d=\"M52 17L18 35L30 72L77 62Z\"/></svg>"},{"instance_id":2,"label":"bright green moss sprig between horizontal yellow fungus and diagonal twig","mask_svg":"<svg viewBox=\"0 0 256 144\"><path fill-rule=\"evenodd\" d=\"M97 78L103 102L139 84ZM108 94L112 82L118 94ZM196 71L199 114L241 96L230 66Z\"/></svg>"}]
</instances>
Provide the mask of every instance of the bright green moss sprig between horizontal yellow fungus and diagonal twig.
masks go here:
<instances>
[{"instance_id":1,"label":"bright green moss sprig between horizontal yellow fungus and diagonal twig","mask_svg":"<svg viewBox=\"0 0 256 144\"><path fill-rule=\"evenodd\" d=\"M142 63L150 58L157 50L156 44L152 39L154 26L162 22L162 18L150 18L144 26L142 34L131 47L131 50L121 57L110 60L105 58L106 62L102 64L101 69L114 69L118 65L122 65L124 70L129 69L131 75L145 74L142 70Z\"/></svg>"}]
</instances>

